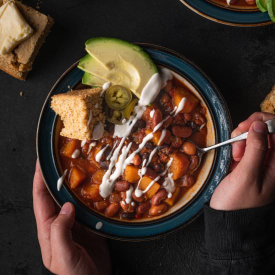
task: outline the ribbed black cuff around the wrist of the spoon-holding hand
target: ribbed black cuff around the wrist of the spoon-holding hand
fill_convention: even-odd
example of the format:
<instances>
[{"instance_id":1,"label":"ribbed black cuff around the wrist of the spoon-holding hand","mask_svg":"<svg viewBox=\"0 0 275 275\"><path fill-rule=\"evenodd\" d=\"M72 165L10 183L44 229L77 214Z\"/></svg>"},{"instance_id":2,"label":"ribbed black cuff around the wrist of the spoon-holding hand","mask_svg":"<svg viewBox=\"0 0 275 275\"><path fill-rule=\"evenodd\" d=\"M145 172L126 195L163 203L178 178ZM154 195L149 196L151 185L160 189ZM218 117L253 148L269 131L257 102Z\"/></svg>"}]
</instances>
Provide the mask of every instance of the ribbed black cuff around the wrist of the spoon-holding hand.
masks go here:
<instances>
[{"instance_id":1,"label":"ribbed black cuff around the wrist of the spoon-holding hand","mask_svg":"<svg viewBox=\"0 0 275 275\"><path fill-rule=\"evenodd\" d=\"M221 211L204 204L204 248L220 259L238 259L275 247L275 201L268 205Z\"/></svg>"}]
</instances>

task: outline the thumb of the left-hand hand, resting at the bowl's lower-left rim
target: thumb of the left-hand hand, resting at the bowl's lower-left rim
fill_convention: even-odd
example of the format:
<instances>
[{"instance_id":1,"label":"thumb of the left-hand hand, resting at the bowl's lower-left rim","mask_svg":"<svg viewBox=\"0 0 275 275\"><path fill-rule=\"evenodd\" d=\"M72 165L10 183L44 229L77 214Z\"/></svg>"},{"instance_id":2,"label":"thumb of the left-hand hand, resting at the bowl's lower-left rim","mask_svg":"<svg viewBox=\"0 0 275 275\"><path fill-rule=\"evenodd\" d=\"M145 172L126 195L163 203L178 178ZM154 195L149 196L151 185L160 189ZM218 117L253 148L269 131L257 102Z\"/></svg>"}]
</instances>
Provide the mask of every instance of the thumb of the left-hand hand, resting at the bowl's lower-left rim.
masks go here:
<instances>
[{"instance_id":1,"label":"thumb of the left-hand hand, resting at the bowl's lower-left rim","mask_svg":"<svg viewBox=\"0 0 275 275\"><path fill-rule=\"evenodd\" d=\"M52 258L61 255L69 256L69 252L75 248L72 241L71 228L74 223L75 209L72 203L66 202L58 216L50 226L50 244Z\"/></svg>"}]
</instances>

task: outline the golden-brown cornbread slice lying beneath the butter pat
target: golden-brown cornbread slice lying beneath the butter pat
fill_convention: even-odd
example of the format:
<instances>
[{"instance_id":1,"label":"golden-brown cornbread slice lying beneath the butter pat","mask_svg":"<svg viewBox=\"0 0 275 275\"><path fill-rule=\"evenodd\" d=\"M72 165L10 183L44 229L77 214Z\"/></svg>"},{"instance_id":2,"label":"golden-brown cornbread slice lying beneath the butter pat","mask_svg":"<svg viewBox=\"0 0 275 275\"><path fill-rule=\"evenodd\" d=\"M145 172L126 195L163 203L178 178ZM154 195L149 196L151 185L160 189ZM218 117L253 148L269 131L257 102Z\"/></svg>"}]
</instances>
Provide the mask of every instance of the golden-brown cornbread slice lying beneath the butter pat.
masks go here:
<instances>
[{"instance_id":1,"label":"golden-brown cornbread slice lying beneath the butter pat","mask_svg":"<svg viewBox=\"0 0 275 275\"><path fill-rule=\"evenodd\" d=\"M0 5L6 1L0 0ZM0 55L0 69L15 78L24 80L53 25L53 19L20 2L16 2L16 6L34 32L10 53Z\"/></svg>"}]
</instances>

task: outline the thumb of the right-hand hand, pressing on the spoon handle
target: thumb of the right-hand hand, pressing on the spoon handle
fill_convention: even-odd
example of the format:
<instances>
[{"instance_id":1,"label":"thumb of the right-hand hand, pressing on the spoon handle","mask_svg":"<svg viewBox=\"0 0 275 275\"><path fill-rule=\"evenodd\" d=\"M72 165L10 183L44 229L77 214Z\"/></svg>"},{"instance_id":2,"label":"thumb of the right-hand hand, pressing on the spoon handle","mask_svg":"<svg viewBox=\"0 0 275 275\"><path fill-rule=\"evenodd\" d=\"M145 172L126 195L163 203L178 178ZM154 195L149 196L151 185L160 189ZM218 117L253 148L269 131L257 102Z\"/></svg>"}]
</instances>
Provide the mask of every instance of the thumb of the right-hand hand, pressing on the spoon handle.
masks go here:
<instances>
[{"instance_id":1,"label":"thumb of the right-hand hand, pressing on the spoon handle","mask_svg":"<svg viewBox=\"0 0 275 275\"><path fill-rule=\"evenodd\" d=\"M243 176L257 178L263 168L264 159L268 149L267 127L263 121L254 121L246 139L244 155L238 168Z\"/></svg>"}]
</instances>

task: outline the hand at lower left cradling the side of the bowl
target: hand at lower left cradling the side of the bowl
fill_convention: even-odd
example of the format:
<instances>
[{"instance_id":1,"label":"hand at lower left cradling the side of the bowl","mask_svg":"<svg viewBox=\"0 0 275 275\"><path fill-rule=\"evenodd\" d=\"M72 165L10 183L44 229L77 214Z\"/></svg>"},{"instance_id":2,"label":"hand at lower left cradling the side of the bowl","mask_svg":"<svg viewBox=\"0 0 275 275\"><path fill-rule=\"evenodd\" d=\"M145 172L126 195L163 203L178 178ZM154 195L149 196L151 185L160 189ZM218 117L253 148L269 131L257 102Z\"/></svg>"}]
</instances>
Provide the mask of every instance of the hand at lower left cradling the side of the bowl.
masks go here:
<instances>
[{"instance_id":1,"label":"hand at lower left cradling the side of the bowl","mask_svg":"<svg viewBox=\"0 0 275 275\"><path fill-rule=\"evenodd\" d=\"M72 203L66 202L57 214L59 207L44 184L38 161L32 195L38 241L45 267L58 275L110 274L110 259L105 239L74 224L75 209ZM81 234L77 234L79 230ZM78 242L82 240L86 245L90 244L87 250L73 241L74 233Z\"/></svg>"}]
</instances>

